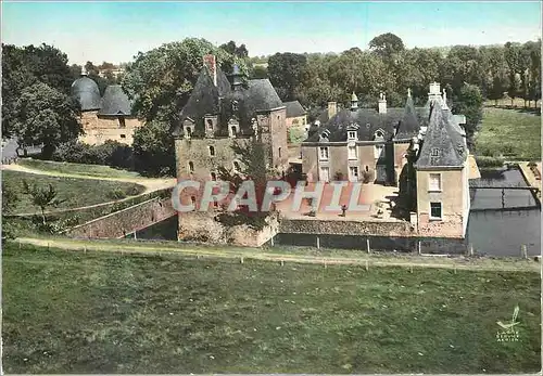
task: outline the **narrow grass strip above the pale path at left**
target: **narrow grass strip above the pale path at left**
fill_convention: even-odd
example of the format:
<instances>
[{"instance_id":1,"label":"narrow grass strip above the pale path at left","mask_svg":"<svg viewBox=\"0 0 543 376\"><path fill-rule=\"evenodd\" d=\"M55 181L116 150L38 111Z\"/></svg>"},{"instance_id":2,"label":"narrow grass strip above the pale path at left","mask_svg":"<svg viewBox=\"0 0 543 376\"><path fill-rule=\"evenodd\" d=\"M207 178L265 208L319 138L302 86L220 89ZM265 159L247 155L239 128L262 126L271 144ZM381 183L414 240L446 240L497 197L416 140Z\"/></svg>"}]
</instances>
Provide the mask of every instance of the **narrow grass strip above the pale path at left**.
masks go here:
<instances>
[{"instance_id":1,"label":"narrow grass strip above the pale path at left","mask_svg":"<svg viewBox=\"0 0 543 376\"><path fill-rule=\"evenodd\" d=\"M39 159L21 159L20 165L37 170L75 173L99 178L139 178L137 172L115 169L109 166L71 164L67 161L50 161Z\"/></svg>"}]
</instances>

